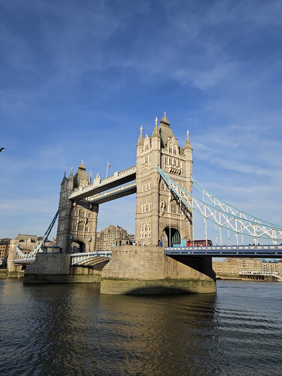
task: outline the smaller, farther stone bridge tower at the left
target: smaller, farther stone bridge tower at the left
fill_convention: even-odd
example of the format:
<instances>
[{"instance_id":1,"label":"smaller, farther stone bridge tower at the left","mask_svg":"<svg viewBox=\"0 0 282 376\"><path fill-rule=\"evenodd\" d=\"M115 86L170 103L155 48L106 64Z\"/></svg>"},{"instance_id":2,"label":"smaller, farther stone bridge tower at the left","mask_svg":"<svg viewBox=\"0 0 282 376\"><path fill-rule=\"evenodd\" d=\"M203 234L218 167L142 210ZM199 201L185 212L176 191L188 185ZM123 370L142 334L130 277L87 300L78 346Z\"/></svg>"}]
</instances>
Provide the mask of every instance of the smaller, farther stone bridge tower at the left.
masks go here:
<instances>
[{"instance_id":1,"label":"smaller, farther stone bridge tower at the left","mask_svg":"<svg viewBox=\"0 0 282 376\"><path fill-rule=\"evenodd\" d=\"M73 176L65 174L60 185L59 219L56 245L62 253L71 252L71 244L78 243L80 251L94 251L97 216L99 205L90 204L87 199L77 202L68 200L73 190L80 189L90 183L83 161Z\"/></svg>"}]
</instances>

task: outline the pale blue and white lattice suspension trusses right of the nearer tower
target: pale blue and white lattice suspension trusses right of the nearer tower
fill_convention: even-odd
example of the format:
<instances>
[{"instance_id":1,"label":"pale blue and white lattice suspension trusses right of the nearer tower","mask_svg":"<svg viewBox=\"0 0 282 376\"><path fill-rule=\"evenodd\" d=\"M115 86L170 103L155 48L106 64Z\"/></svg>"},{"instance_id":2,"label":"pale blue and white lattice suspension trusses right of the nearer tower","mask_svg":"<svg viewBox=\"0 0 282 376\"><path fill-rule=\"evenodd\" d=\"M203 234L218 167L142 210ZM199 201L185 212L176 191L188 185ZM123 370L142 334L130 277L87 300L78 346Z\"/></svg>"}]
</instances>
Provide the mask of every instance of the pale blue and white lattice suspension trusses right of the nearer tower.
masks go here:
<instances>
[{"instance_id":1,"label":"pale blue and white lattice suspension trusses right of the nearer tower","mask_svg":"<svg viewBox=\"0 0 282 376\"><path fill-rule=\"evenodd\" d=\"M254 239L267 239L274 243L282 240L282 227L256 218L242 210L227 204L207 189L201 186L192 176L191 181L203 195L203 200L179 186L159 167L159 172L167 187L171 189L175 198L188 207L192 213L199 213L205 220L208 220L219 229L226 229L235 232L235 235L243 234Z\"/></svg>"}]
</instances>

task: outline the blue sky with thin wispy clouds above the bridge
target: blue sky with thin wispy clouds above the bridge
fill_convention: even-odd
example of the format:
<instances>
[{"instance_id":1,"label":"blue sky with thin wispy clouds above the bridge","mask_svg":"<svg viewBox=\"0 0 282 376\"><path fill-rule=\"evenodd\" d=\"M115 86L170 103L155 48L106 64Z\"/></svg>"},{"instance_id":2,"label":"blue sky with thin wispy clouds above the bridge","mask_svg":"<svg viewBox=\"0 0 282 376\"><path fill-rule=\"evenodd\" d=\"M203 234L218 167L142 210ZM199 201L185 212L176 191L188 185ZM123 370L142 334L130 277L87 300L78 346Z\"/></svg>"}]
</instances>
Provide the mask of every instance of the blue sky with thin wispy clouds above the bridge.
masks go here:
<instances>
[{"instance_id":1,"label":"blue sky with thin wispy clouds above the bridge","mask_svg":"<svg viewBox=\"0 0 282 376\"><path fill-rule=\"evenodd\" d=\"M276 0L0 0L0 238L43 235L82 160L101 178L107 161L135 165L164 111L182 147L189 129L201 185L281 226L281 14ZM135 233L135 202L102 204L97 230Z\"/></svg>"}]
</instances>

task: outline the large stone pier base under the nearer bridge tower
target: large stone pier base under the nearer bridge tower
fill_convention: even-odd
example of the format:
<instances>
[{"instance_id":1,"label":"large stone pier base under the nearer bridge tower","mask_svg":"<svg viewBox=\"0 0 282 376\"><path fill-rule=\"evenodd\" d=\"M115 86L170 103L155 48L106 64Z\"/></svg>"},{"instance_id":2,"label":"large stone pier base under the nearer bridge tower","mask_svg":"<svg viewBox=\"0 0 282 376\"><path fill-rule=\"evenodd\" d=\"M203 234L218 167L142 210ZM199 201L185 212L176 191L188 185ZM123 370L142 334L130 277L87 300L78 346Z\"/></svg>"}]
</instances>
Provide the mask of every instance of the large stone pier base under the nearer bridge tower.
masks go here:
<instances>
[{"instance_id":1,"label":"large stone pier base under the nearer bridge tower","mask_svg":"<svg viewBox=\"0 0 282 376\"><path fill-rule=\"evenodd\" d=\"M113 247L112 258L101 273L101 293L211 292L216 292L216 281L210 258L176 260L164 255L162 247Z\"/></svg>"}]
</instances>

